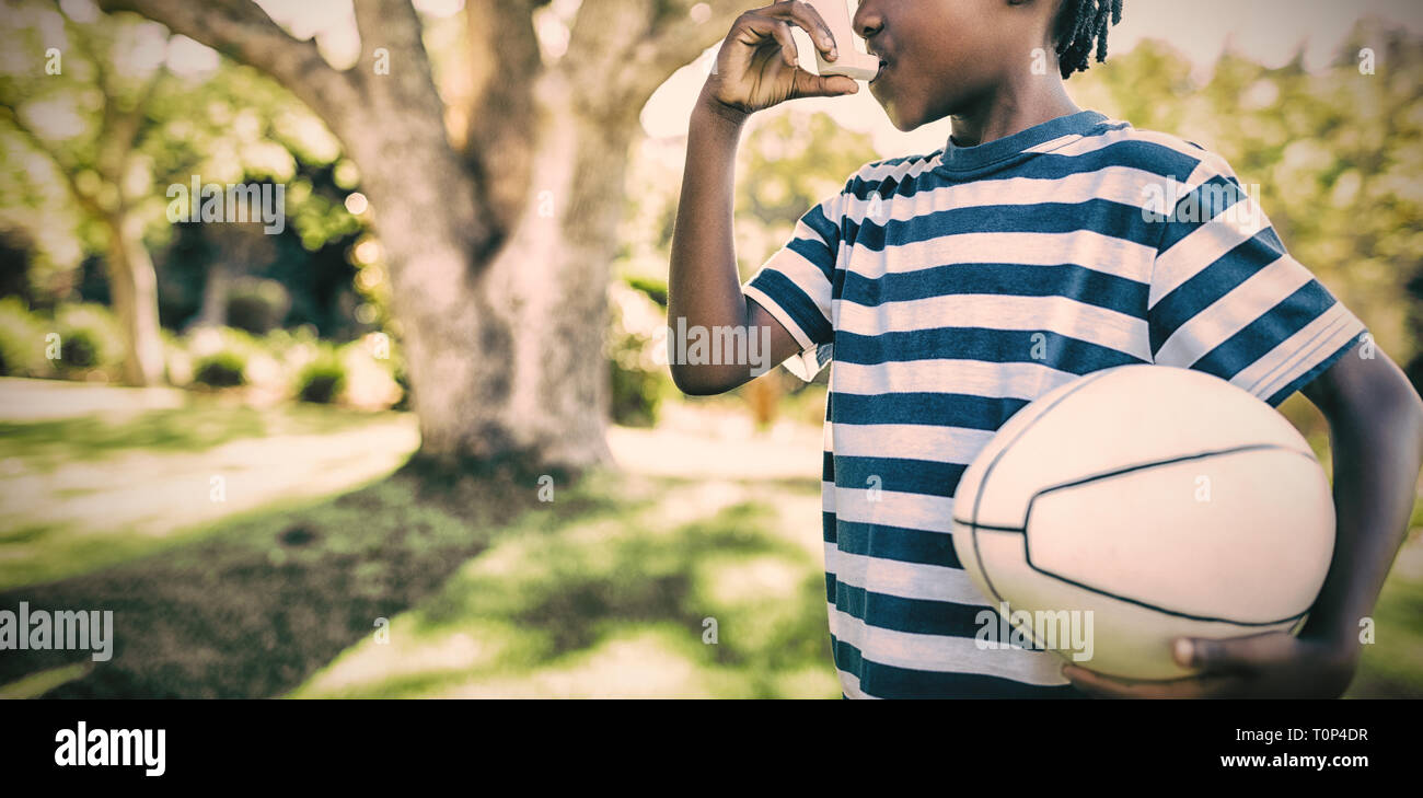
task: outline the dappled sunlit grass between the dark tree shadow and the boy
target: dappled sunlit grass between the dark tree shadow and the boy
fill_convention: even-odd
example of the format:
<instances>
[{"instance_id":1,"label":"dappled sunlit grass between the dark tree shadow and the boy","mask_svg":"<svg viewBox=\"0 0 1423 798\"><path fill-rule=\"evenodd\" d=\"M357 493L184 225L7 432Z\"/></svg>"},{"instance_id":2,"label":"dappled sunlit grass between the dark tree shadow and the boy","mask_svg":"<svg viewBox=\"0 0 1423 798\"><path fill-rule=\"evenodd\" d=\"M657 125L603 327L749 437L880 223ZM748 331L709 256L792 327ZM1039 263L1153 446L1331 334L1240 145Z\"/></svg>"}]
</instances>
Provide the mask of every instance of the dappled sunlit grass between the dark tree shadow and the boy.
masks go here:
<instances>
[{"instance_id":1,"label":"dappled sunlit grass between the dark tree shadow and the boy","mask_svg":"<svg viewBox=\"0 0 1423 798\"><path fill-rule=\"evenodd\" d=\"M689 522L667 519L696 501L670 481L527 518L295 696L838 697L818 559L741 489Z\"/></svg>"}]
</instances>

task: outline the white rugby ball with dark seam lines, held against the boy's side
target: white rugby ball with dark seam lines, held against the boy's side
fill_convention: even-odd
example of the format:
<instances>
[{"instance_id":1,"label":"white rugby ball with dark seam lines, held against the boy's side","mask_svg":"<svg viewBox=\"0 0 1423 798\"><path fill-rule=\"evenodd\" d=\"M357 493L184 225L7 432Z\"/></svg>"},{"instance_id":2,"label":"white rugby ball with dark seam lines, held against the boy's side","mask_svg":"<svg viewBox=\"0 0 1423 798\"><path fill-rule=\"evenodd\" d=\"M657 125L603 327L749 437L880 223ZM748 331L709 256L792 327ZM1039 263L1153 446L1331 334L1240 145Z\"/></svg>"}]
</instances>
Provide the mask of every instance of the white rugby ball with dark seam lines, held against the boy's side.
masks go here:
<instances>
[{"instance_id":1,"label":"white rugby ball with dark seam lines, held against the boy's side","mask_svg":"<svg viewBox=\"0 0 1423 798\"><path fill-rule=\"evenodd\" d=\"M975 458L953 502L953 548L989 605L1035 647L1127 679L1190 676L1175 637L1298 632L1333 538L1329 482L1303 437L1241 388L1164 366L1043 394ZM1090 619L1086 650L1067 647L1072 613Z\"/></svg>"}]
</instances>

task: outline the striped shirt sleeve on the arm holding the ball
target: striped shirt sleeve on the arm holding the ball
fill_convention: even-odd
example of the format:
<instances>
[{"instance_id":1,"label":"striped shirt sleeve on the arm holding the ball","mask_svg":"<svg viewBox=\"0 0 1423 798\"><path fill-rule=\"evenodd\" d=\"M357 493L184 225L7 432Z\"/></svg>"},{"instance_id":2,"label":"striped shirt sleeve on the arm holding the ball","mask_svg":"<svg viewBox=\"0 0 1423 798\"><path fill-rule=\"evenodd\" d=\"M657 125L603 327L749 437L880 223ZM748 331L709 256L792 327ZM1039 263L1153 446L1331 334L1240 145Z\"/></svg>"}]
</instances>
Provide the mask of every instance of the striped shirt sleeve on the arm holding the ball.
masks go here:
<instances>
[{"instance_id":1,"label":"striped shirt sleeve on the arm holding the ball","mask_svg":"<svg viewBox=\"0 0 1423 798\"><path fill-rule=\"evenodd\" d=\"M1158 222L1154 363L1214 374L1278 407L1366 337L1218 156L1207 154Z\"/></svg>"}]
</instances>

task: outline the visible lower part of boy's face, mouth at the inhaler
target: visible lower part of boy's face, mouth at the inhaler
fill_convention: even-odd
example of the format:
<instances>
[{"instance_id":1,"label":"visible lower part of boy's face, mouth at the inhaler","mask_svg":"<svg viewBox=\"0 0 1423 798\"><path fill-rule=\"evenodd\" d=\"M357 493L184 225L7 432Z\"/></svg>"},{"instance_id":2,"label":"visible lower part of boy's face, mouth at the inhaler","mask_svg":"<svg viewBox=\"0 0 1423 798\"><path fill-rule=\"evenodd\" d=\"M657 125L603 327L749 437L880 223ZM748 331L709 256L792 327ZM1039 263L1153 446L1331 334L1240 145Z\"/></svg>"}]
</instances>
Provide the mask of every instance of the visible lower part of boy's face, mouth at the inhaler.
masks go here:
<instances>
[{"instance_id":1,"label":"visible lower part of boy's face, mouth at the inhaler","mask_svg":"<svg viewBox=\"0 0 1423 798\"><path fill-rule=\"evenodd\" d=\"M972 111L1027 74L1056 0L861 0L854 30L879 55L869 92L902 131Z\"/></svg>"}]
</instances>

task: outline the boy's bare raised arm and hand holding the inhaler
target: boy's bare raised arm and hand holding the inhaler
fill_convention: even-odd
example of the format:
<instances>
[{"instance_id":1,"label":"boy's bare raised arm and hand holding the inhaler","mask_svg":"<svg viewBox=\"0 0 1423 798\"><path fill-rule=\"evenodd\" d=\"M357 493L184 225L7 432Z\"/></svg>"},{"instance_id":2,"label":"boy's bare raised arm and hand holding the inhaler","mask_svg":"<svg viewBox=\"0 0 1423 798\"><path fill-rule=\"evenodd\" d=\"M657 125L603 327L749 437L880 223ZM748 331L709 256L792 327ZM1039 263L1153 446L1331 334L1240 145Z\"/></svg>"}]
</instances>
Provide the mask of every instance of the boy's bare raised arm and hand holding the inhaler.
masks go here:
<instances>
[{"instance_id":1,"label":"boy's bare raised arm and hand holding the inhaler","mask_svg":"<svg viewBox=\"0 0 1423 798\"><path fill-rule=\"evenodd\" d=\"M813 75L797 67L791 26L804 28L827 58L830 28L805 3L776 3L741 14L717 54L692 111L682 199L672 235L667 319L687 329L770 329L771 363L794 354L795 339L741 293L731 229L736 149L747 117L795 97L854 94L847 77ZM676 344L676 341L673 341ZM687 394L729 391L753 377L750 363L693 366L673 358L672 378Z\"/></svg>"}]
</instances>

